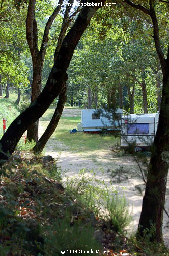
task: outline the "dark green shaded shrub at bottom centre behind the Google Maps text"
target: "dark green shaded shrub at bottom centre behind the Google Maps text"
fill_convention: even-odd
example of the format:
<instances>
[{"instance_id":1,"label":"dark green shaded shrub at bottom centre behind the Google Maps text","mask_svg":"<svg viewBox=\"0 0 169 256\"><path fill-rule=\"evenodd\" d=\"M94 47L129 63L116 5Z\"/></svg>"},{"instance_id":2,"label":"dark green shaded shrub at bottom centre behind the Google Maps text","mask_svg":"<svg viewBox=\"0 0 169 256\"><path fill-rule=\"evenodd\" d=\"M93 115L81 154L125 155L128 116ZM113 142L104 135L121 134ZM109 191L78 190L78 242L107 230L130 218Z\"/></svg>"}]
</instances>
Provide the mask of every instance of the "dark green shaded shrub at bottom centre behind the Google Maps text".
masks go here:
<instances>
[{"instance_id":1,"label":"dark green shaded shrub at bottom centre behind the Google Maps text","mask_svg":"<svg viewBox=\"0 0 169 256\"><path fill-rule=\"evenodd\" d=\"M46 238L47 246L50 248L50 255L56 255L56 251L72 250L72 255L77 255L79 250L98 250L102 247L94 237L94 227L89 223L82 223L81 220L74 221L74 224L70 226L71 220L70 212L66 212L66 216L60 220L58 219L53 227L48 230L49 234ZM53 231L55 230L55 231ZM74 253L73 253L74 250ZM96 254L97 255L97 254Z\"/></svg>"}]
</instances>

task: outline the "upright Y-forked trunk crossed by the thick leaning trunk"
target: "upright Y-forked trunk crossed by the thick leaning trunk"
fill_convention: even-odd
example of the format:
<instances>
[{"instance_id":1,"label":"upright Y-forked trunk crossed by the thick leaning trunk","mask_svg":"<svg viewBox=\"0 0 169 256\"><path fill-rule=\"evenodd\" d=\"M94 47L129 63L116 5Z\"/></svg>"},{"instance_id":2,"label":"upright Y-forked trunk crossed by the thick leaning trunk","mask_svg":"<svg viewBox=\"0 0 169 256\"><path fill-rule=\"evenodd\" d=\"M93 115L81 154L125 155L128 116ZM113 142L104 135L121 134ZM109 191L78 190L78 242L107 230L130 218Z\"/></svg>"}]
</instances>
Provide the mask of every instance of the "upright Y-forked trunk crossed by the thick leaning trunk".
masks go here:
<instances>
[{"instance_id":1,"label":"upright Y-forked trunk crossed by the thick leaning trunk","mask_svg":"<svg viewBox=\"0 0 169 256\"><path fill-rule=\"evenodd\" d=\"M63 3L63 0L59 0L59 3ZM40 50L38 50L38 27L35 19L35 4L36 0L29 0L26 18L26 39L30 48L33 63L31 103L39 96L41 92L42 68L46 54L46 47L49 40L49 30L55 17L61 9L61 5L58 5L53 11L52 15L49 17L44 29L41 47ZM27 139L29 141L38 141L38 120L28 127Z\"/></svg>"}]
</instances>

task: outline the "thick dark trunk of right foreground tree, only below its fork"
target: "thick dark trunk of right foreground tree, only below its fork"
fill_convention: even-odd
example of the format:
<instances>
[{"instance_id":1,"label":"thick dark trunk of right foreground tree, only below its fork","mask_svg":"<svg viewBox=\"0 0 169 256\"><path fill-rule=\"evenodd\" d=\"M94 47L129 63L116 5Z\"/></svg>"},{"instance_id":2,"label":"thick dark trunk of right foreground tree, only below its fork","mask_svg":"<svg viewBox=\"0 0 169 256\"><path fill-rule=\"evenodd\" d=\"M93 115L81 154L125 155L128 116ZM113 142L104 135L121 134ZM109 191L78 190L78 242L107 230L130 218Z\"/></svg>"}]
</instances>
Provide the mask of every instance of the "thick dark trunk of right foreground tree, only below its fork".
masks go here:
<instances>
[{"instance_id":1,"label":"thick dark trunk of right foreground tree, only below its fork","mask_svg":"<svg viewBox=\"0 0 169 256\"><path fill-rule=\"evenodd\" d=\"M169 74L169 67L167 68ZM154 139L153 151L149 163L145 196L139 219L138 233L143 236L145 229L155 224L156 231L152 240L162 242L162 221L168 175L169 152L169 76L163 79L159 124Z\"/></svg>"}]
</instances>

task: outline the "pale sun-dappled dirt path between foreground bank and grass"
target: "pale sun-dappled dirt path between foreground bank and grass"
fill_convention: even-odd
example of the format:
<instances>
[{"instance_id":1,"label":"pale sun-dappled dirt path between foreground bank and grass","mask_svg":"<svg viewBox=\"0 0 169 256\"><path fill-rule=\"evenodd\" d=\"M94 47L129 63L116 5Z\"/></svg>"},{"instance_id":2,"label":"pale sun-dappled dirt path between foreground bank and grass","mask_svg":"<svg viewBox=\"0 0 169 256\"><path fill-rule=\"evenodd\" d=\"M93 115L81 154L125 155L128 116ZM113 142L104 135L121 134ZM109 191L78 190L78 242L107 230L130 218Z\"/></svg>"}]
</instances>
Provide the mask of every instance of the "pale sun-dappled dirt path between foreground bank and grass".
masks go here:
<instances>
[{"instance_id":1,"label":"pale sun-dappled dirt path between foreground bank and grass","mask_svg":"<svg viewBox=\"0 0 169 256\"><path fill-rule=\"evenodd\" d=\"M63 116L80 116L80 110L69 110L65 109L63 112ZM44 130L42 122L40 122L40 133ZM54 151L54 144L59 145L59 152ZM60 155L59 155L60 153ZM95 151L92 154L88 154L87 152L81 153L73 153L69 151L69 147L65 146L57 141L55 138L51 138L46 147L45 147L45 155L51 155L54 158L59 157L58 166L62 168L65 172L65 175L68 177L72 177L78 175L81 169L85 169L88 175L91 174L91 170L96 173L96 178L100 180L104 180L106 185L110 184L110 173L112 169L121 169L128 170L129 176L131 178L126 179L125 182L122 183L114 183L114 188L117 189L120 195L125 195L126 199L129 202L129 209L132 212L133 223L128 230L130 233L137 229L140 211L142 209L142 199L143 196L138 194L138 191L135 186L143 187L142 179L140 179L140 173L136 162L133 160L133 157L128 155L118 156L117 153L112 152L110 150L105 151ZM165 208L169 211L169 180L167 183L167 196L166 196L166 205ZM163 234L164 241L169 246L169 228L166 227L166 223L168 221L168 217L164 213L164 221L163 221Z\"/></svg>"}]
</instances>

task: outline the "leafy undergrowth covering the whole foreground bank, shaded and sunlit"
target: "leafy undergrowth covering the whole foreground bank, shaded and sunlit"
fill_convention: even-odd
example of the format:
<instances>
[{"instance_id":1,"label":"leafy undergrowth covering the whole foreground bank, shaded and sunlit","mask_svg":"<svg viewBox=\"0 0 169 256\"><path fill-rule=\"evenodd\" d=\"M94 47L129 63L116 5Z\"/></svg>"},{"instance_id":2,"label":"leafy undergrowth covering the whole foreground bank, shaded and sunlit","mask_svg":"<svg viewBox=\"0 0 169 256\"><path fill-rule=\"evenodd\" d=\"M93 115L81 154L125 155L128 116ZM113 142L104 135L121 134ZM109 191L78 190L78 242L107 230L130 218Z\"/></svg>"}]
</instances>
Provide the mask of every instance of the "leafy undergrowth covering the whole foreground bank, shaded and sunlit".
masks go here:
<instances>
[{"instance_id":1,"label":"leafy undergrowth covering the whole foreground bank, shaded and sunlit","mask_svg":"<svg viewBox=\"0 0 169 256\"><path fill-rule=\"evenodd\" d=\"M81 172L64 189L54 159L24 151L15 152L0 171L2 256L57 256L61 250L69 255L81 255L80 250L93 250L94 255L107 250L111 256L167 255L147 234L144 241L124 236L131 221L128 204L95 174Z\"/></svg>"}]
</instances>

